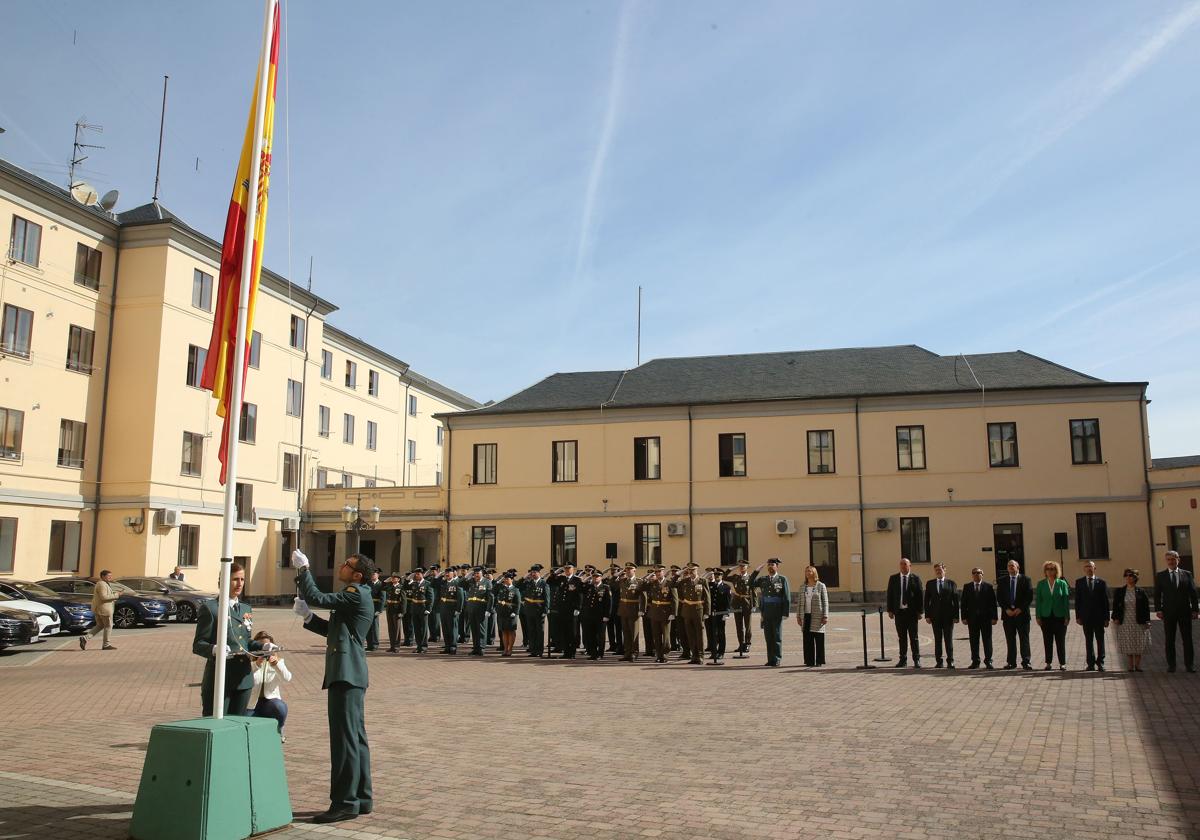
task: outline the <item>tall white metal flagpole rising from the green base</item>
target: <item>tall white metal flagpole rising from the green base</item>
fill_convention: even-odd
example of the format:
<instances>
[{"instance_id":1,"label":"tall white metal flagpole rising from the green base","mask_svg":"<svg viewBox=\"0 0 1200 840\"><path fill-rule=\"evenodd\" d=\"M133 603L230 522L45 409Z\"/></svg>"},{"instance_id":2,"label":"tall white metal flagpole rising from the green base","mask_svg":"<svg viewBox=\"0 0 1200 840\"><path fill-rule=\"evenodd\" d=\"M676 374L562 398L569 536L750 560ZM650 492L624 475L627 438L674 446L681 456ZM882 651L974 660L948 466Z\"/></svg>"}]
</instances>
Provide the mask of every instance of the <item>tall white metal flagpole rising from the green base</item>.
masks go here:
<instances>
[{"instance_id":1,"label":"tall white metal flagpole rising from the green base","mask_svg":"<svg viewBox=\"0 0 1200 840\"><path fill-rule=\"evenodd\" d=\"M250 194L246 206L246 233L241 251L241 281L238 295L238 342L233 359L233 391L229 397L229 450L226 455L224 533L221 536L221 592L217 608L217 642L214 655L212 714L224 718L224 649L229 643L229 568L233 564L233 522L238 492L238 432L241 425L241 389L245 377L246 316L250 310L250 282L254 271L254 228L258 223L258 185L262 176L263 118L266 113L268 64L271 50L271 25L275 4L265 0L263 52L258 59L258 101L254 103L254 137L250 166Z\"/></svg>"}]
</instances>

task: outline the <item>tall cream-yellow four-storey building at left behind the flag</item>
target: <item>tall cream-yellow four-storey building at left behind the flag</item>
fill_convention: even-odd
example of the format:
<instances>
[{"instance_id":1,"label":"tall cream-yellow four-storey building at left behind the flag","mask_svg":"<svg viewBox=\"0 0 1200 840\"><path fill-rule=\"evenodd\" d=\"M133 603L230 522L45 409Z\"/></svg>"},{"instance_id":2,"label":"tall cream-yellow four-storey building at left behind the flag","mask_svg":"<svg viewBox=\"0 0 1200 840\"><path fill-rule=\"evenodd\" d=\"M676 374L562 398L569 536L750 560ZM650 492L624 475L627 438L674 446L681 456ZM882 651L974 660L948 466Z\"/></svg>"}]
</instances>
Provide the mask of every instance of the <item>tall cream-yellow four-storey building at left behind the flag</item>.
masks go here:
<instances>
[{"instance_id":1,"label":"tall cream-yellow four-storey building at left behind the flag","mask_svg":"<svg viewBox=\"0 0 1200 840\"><path fill-rule=\"evenodd\" d=\"M221 425L198 385L220 244L158 205L114 216L2 161L0 226L0 575L178 564L212 586ZM335 310L263 271L234 550L252 595L290 590L281 563L310 492L437 485L436 415L478 407L326 323ZM400 536L379 536L398 558Z\"/></svg>"}]
</instances>

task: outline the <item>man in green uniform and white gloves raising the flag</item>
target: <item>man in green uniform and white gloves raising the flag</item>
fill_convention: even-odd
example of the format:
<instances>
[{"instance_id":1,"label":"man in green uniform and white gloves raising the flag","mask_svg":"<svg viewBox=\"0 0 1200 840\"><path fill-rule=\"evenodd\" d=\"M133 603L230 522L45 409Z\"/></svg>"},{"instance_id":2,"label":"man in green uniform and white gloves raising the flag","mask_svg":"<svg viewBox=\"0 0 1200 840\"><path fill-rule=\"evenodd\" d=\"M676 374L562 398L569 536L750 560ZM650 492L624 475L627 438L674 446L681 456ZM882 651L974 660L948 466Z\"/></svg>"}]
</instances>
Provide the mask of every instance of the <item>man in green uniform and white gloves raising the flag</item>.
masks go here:
<instances>
[{"instance_id":1,"label":"man in green uniform and white gloves raising the flag","mask_svg":"<svg viewBox=\"0 0 1200 840\"><path fill-rule=\"evenodd\" d=\"M292 552L292 565L296 568L300 590L293 608L308 630L325 637L322 688L329 691L329 810L312 821L353 820L370 814L374 806L371 748L362 709L367 692L364 646L376 617L371 599L374 564L364 554L350 554L337 570L337 580L346 586L330 594L317 588L302 552ZM329 610L329 619L314 614L311 606Z\"/></svg>"}]
</instances>

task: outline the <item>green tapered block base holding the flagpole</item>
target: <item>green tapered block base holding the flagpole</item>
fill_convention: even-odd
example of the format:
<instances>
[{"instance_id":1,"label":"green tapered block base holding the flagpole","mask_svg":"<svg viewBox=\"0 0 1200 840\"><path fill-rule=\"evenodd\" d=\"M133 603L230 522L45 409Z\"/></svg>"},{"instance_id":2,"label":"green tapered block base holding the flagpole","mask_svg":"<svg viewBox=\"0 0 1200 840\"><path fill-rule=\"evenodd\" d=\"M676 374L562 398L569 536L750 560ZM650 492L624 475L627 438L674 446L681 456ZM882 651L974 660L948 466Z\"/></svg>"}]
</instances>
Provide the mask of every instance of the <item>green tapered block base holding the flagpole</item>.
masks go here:
<instances>
[{"instance_id":1,"label":"green tapered block base holding the flagpole","mask_svg":"<svg viewBox=\"0 0 1200 840\"><path fill-rule=\"evenodd\" d=\"M202 718L151 730L133 840L245 840L290 822L274 720Z\"/></svg>"}]
</instances>

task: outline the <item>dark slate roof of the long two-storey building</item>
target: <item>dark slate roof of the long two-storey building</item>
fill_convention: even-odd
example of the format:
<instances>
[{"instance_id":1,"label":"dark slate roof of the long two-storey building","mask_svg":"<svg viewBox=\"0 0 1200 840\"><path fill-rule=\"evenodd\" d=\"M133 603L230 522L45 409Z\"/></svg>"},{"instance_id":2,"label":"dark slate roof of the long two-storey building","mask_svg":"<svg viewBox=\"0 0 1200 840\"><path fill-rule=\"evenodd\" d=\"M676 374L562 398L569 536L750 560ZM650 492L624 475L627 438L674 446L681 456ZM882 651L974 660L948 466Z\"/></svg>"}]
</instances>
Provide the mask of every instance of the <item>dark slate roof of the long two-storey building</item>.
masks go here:
<instances>
[{"instance_id":1,"label":"dark slate roof of the long two-storey building","mask_svg":"<svg viewBox=\"0 0 1200 840\"><path fill-rule=\"evenodd\" d=\"M972 371L974 376L972 376ZM1106 385L1022 350L942 356L916 344L654 359L630 371L554 373L467 414Z\"/></svg>"}]
</instances>

